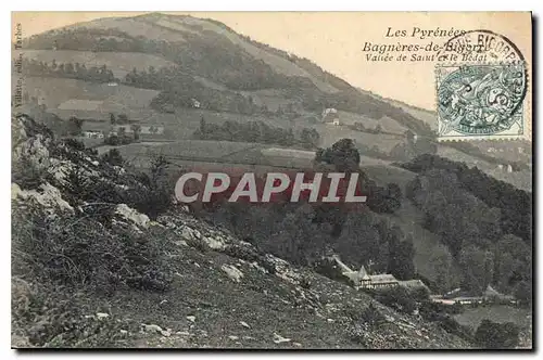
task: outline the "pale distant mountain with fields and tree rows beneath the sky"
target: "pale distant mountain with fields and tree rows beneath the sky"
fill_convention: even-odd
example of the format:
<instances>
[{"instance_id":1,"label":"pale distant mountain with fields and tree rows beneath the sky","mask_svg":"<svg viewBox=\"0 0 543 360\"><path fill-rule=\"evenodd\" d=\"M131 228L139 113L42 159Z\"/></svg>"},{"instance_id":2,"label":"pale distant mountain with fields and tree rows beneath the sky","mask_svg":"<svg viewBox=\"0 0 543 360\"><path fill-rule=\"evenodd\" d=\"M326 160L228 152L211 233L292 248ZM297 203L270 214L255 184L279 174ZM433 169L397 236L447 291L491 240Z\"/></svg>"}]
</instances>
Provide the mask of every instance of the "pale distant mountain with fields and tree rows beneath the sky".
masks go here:
<instances>
[{"instance_id":1,"label":"pale distant mountain with fields and tree rows beneath the sky","mask_svg":"<svg viewBox=\"0 0 543 360\"><path fill-rule=\"evenodd\" d=\"M190 138L202 116L211 123L260 120L314 128L323 146L352 138L369 157L408 160L434 147L441 156L477 165L522 189L531 179L531 170L500 169L513 163L526 170L530 143L517 141L515 154L494 151L488 142L438 144L432 112L356 89L307 59L214 20L160 13L100 18L31 36L23 49L27 98L65 119L104 120L110 113L124 113L165 125L168 139L176 140ZM111 81L118 86L106 86ZM74 107L74 99L93 103ZM343 126L321 124L329 107L338 110ZM357 124L363 129L353 128ZM407 130L433 145L405 150Z\"/></svg>"}]
</instances>

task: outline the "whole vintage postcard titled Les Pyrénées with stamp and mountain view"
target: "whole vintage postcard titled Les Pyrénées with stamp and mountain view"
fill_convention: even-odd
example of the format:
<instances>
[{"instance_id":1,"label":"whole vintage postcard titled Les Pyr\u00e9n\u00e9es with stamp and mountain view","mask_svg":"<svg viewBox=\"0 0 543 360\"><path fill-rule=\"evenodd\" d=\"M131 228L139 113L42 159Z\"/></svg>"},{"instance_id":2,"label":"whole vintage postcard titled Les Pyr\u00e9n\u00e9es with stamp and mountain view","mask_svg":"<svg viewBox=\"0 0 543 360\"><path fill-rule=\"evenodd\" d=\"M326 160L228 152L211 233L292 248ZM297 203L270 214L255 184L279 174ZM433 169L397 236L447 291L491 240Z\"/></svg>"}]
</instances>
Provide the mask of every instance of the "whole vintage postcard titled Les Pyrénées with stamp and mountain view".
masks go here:
<instances>
[{"instance_id":1,"label":"whole vintage postcard titled Les Pyr\u00e9n\u00e9es with stamp and mountain view","mask_svg":"<svg viewBox=\"0 0 543 360\"><path fill-rule=\"evenodd\" d=\"M532 349L529 12L12 13L12 347Z\"/></svg>"}]
</instances>

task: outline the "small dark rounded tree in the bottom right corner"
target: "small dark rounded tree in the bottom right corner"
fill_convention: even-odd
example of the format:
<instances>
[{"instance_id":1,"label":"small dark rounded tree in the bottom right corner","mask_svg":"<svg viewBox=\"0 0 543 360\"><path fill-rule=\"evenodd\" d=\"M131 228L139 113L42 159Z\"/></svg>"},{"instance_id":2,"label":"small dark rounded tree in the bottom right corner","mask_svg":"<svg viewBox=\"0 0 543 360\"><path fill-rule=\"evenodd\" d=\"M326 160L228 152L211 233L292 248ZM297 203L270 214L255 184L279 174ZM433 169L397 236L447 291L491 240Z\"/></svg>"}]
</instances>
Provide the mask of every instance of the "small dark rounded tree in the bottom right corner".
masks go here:
<instances>
[{"instance_id":1,"label":"small dark rounded tree in the bottom right corner","mask_svg":"<svg viewBox=\"0 0 543 360\"><path fill-rule=\"evenodd\" d=\"M488 349L513 349L518 345L519 329L513 322L498 323L484 319L475 339Z\"/></svg>"}]
</instances>

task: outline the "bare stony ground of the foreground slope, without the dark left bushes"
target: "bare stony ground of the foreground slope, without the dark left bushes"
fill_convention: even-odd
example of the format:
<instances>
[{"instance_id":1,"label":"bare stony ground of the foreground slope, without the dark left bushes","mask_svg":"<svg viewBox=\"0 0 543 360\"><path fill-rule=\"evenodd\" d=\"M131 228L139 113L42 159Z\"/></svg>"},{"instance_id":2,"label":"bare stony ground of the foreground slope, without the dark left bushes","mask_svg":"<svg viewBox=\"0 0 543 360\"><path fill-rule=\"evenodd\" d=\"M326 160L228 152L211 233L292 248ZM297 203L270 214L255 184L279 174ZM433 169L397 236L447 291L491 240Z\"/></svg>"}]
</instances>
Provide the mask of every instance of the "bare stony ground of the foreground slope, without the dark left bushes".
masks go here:
<instances>
[{"instance_id":1,"label":"bare stony ground of the foreground slope, without the dark left bushes","mask_svg":"<svg viewBox=\"0 0 543 360\"><path fill-rule=\"evenodd\" d=\"M168 266L175 273L169 291L155 294L117 290L109 298L88 295L92 296L92 308L106 307L106 311L90 312L96 314L96 321L121 318L135 323L134 331L124 327L118 331L124 338L118 346L330 349L471 346L437 324L397 313L343 283L265 254L180 207L152 221L128 204L112 203L112 191L144 185L130 177L129 171L102 164L90 152L55 140L27 117L12 121L14 158L31 164L43 175L38 184L26 181L24 173L13 177L14 207L40 207L50 215L67 211L75 217L98 219L105 214L113 220L102 224L103 231L129 227L139 240L159 233L167 247ZM77 170L77 177L73 169ZM74 179L100 182L109 192L97 195L92 203L84 202L74 192L75 184L71 182ZM111 213L88 210L104 204L111 205ZM14 281L21 282L16 278ZM27 342L18 335L14 338L17 344Z\"/></svg>"}]
</instances>

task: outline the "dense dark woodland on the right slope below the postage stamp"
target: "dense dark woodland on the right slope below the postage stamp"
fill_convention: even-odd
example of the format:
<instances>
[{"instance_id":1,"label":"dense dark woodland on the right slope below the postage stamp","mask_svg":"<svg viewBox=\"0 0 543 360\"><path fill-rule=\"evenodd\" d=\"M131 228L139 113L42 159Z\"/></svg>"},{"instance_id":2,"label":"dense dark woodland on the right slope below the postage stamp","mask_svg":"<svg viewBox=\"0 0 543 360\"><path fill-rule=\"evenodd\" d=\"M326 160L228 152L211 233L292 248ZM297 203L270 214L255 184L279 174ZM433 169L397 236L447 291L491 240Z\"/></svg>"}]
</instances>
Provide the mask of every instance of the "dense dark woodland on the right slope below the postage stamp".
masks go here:
<instances>
[{"instance_id":1,"label":"dense dark woodland on the right slope below the postage stamp","mask_svg":"<svg viewBox=\"0 0 543 360\"><path fill-rule=\"evenodd\" d=\"M406 196L458 261L463 287L480 294L493 284L529 298L531 194L438 156L419 156L404 167L419 173Z\"/></svg>"}]
</instances>

